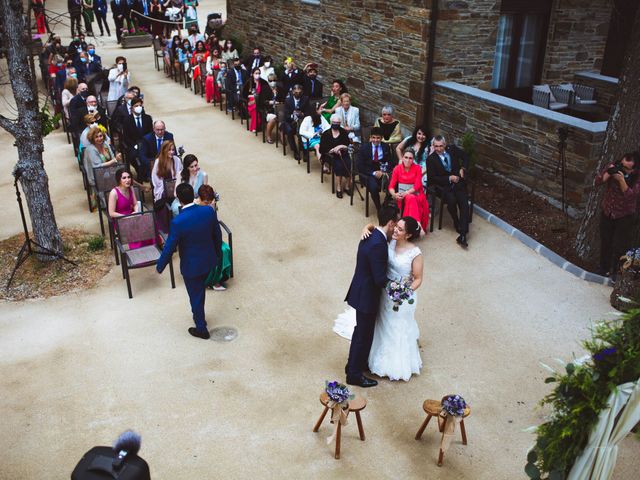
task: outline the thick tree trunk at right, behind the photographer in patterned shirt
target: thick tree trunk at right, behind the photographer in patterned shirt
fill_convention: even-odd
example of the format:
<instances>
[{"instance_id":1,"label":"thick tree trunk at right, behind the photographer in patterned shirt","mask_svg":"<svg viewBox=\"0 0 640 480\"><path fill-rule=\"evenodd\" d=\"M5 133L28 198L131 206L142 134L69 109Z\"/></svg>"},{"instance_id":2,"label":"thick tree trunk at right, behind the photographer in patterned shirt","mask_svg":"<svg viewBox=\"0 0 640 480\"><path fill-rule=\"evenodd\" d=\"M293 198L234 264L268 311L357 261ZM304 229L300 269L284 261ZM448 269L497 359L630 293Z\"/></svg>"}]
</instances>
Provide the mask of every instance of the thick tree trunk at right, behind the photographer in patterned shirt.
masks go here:
<instances>
[{"instance_id":1,"label":"thick tree trunk at right, behind the photographer in patterned shirt","mask_svg":"<svg viewBox=\"0 0 640 480\"><path fill-rule=\"evenodd\" d=\"M625 153L640 148L640 8L636 12L632 31L626 47L616 104L607 125L594 180L595 175L608 163L617 162ZM596 259L600 250L600 205L603 196L604 187L595 188L592 184L575 243L576 253L585 260ZM639 240L640 231L636 229L633 245L640 245Z\"/></svg>"}]
</instances>

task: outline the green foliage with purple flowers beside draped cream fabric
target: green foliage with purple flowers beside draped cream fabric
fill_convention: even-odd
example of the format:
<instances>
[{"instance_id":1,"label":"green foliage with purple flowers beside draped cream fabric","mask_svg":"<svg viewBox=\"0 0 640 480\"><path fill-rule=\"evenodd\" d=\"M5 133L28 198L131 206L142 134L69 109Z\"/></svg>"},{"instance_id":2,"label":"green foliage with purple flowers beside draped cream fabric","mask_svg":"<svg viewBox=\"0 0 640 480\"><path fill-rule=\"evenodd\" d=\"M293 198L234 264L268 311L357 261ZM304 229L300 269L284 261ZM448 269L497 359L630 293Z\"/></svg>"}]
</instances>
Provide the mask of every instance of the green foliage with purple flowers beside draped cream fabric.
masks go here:
<instances>
[{"instance_id":1,"label":"green foliage with purple flowers beside draped cream fabric","mask_svg":"<svg viewBox=\"0 0 640 480\"><path fill-rule=\"evenodd\" d=\"M587 362L569 363L566 373L545 379L556 387L541 404L550 405L553 412L537 428L538 438L525 466L529 478L565 478L586 446L611 391L640 377L640 309L597 325L593 338L583 346L591 356Z\"/></svg>"}]
</instances>

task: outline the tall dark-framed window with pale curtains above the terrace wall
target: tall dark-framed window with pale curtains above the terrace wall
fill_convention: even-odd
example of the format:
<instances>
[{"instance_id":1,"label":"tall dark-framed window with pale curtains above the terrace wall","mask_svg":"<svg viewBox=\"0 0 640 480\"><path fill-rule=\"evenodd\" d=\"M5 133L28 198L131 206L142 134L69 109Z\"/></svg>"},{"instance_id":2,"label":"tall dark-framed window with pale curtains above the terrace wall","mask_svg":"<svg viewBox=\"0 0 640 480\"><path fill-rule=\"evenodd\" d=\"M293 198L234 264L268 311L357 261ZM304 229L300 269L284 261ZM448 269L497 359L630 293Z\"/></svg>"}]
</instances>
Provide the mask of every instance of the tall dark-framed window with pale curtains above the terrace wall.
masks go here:
<instances>
[{"instance_id":1,"label":"tall dark-framed window with pale curtains above the terrace wall","mask_svg":"<svg viewBox=\"0 0 640 480\"><path fill-rule=\"evenodd\" d=\"M527 100L540 81L552 0L503 0L491 90Z\"/></svg>"}]
</instances>

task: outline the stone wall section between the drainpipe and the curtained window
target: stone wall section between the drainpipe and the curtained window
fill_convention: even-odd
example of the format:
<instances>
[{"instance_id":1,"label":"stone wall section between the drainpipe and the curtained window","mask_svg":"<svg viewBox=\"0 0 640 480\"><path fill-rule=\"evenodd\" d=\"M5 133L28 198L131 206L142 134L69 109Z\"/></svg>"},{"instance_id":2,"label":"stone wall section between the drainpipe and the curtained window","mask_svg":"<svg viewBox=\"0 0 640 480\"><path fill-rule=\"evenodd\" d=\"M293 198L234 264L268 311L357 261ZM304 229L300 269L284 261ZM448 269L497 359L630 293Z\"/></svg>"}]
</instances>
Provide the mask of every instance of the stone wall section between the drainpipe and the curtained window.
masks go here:
<instances>
[{"instance_id":1,"label":"stone wall section between the drainpipe and the curtained window","mask_svg":"<svg viewBox=\"0 0 640 480\"><path fill-rule=\"evenodd\" d=\"M500 0L440 0L433 80L489 90Z\"/></svg>"}]
</instances>

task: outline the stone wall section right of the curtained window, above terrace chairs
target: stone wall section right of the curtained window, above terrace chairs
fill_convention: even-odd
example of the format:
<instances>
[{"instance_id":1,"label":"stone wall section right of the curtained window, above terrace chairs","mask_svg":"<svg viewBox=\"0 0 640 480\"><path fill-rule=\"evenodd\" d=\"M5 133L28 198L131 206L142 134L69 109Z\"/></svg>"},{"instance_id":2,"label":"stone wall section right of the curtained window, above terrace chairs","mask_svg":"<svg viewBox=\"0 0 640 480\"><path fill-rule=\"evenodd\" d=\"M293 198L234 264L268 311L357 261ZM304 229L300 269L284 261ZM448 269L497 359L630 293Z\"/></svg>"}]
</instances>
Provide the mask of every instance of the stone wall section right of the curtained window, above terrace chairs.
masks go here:
<instances>
[{"instance_id":1,"label":"stone wall section right of the curtained window, above terrace chairs","mask_svg":"<svg viewBox=\"0 0 640 480\"><path fill-rule=\"evenodd\" d=\"M611 21L610 0L556 0L551 11L542 83L573 81L602 68Z\"/></svg>"}]
</instances>

